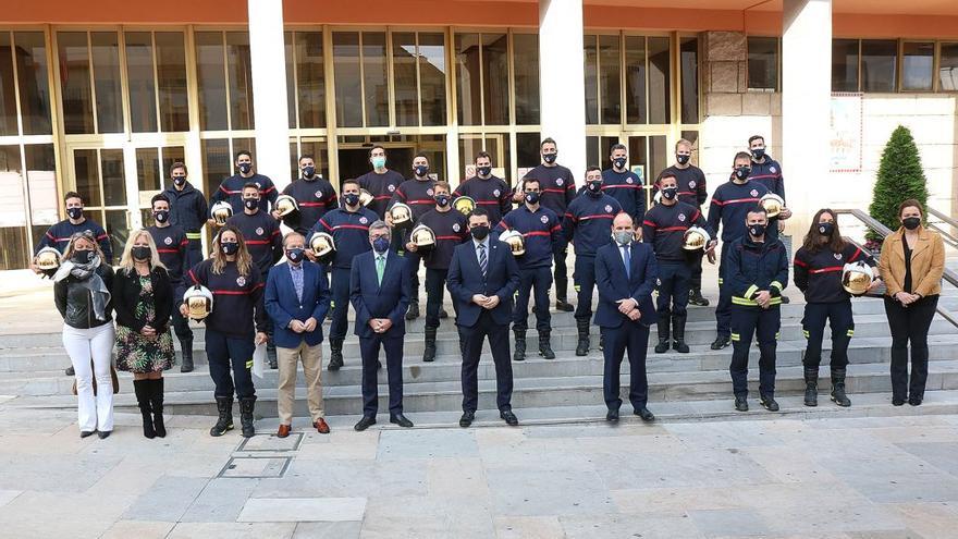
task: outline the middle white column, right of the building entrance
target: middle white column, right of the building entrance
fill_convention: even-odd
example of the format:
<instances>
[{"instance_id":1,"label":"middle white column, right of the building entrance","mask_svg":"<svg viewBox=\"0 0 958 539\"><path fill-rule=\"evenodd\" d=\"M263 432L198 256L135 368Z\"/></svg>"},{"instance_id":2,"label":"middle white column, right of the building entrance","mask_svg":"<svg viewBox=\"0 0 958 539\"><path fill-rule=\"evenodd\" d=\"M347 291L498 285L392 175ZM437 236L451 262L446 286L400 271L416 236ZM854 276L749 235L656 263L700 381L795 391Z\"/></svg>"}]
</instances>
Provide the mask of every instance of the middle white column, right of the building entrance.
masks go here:
<instances>
[{"instance_id":1,"label":"middle white column, right of the building entrance","mask_svg":"<svg viewBox=\"0 0 958 539\"><path fill-rule=\"evenodd\" d=\"M582 33L581 0L539 0L542 138L555 139L558 162L573 171L579 185L586 171Z\"/></svg>"}]
</instances>

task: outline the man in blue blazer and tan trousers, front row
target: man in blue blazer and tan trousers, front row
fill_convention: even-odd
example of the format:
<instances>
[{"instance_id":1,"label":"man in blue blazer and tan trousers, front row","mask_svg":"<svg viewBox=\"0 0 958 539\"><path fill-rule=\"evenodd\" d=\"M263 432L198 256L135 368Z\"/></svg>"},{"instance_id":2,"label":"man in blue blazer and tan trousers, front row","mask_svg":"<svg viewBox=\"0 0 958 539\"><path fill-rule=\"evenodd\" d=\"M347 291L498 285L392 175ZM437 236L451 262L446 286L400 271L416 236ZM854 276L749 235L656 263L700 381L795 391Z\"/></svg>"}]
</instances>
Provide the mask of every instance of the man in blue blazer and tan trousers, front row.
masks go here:
<instances>
[{"instance_id":1,"label":"man in blue blazer and tan trousers, front row","mask_svg":"<svg viewBox=\"0 0 958 539\"><path fill-rule=\"evenodd\" d=\"M298 232L283 237L286 262L274 266L266 282L266 310L273 321L273 339L280 368L277 406L278 438L286 438L293 426L296 395L296 364L303 362L306 394L312 426L329 433L322 411L322 319L329 310L329 284L322 269L306 260L306 238Z\"/></svg>"}]
</instances>

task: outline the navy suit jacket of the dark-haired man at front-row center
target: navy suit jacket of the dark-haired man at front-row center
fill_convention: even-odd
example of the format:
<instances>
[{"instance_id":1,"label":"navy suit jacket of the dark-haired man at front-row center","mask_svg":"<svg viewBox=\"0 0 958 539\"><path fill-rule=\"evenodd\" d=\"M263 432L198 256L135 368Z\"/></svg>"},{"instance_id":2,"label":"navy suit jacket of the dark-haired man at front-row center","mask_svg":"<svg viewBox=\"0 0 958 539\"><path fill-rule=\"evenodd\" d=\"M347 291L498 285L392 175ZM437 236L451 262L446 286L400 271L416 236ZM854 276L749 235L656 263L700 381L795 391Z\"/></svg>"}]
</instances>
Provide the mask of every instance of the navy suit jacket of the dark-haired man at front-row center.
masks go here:
<instances>
[{"instance_id":1,"label":"navy suit jacket of the dark-haired man at front-row center","mask_svg":"<svg viewBox=\"0 0 958 539\"><path fill-rule=\"evenodd\" d=\"M479 322L479 315L486 308L472 303L472 296L499 296L499 305L489 314L499 326L508 326L513 319L513 295L519 287L519 266L509 246L494 240L491 234L489 242L486 279L479 268L475 240L468 241L453 253L445 286L453 301L456 302L456 324L471 328Z\"/></svg>"}]
</instances>

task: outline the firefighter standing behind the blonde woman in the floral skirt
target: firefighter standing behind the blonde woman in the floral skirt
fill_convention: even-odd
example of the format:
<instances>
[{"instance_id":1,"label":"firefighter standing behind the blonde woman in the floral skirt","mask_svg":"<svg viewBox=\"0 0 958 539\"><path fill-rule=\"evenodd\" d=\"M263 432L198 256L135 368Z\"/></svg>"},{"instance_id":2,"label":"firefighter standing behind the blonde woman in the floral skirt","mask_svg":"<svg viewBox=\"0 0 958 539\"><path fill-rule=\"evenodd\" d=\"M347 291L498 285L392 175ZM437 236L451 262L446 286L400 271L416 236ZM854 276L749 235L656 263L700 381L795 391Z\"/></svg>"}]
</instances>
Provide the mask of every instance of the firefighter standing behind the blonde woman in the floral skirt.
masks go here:
<instances>
[{"instance_id":1,"label":"firefighter standing behind the blonde woman in the floral skirt","mask_svg":"<svg viewBox=\"0 0 958 539\"><path fill-rule=\"evenodd\" d=\"M170 284L173 290L181 287L183 275L189 268L189 240L183 229L170 224L170 199L165 195L156 195L150 200L155 224L146 229L153 243L157 244L157 253L160 261L167 267L170 275ZM193 330L189 321L173 309L173 331L180 340L180 348L183 351L183 362L180 364L180 372L193 371Z\"/></svg>"}]
</instances>

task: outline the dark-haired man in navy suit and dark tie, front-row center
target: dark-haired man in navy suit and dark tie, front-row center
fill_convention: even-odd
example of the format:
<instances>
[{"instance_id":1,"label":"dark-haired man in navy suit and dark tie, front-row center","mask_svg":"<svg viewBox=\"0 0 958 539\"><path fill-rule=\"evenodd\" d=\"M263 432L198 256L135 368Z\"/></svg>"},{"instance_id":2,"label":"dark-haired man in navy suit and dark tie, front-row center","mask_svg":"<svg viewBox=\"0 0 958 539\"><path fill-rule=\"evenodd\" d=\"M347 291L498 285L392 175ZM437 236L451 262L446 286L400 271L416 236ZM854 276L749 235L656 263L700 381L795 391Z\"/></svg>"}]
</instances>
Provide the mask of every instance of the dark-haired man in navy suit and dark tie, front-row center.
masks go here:
<instances>
[{"instance_id":1,"label":"dark-haired man in navy suit and dark tie, front-row center","mask_svg":"<svg viewBox=\"0 0 958 539\"><path fill-rule=\"evenodd\" d=\"M477 207L469 216L472 240L458 245L450 261L446 287L456 303L456 324L463 340L463 417L459 427L472 425L479 404L479 356L489 338L495 363L499 417L509 426L513 414L513 367L509 362L508 324L513 294L519 286L519 267L509 246L489 237L489 215Z\"/></svg>"}]
</instances>

